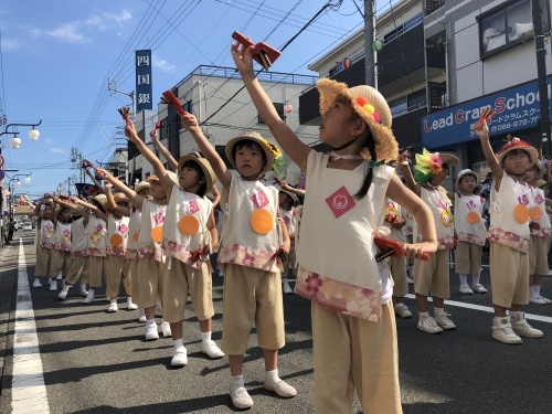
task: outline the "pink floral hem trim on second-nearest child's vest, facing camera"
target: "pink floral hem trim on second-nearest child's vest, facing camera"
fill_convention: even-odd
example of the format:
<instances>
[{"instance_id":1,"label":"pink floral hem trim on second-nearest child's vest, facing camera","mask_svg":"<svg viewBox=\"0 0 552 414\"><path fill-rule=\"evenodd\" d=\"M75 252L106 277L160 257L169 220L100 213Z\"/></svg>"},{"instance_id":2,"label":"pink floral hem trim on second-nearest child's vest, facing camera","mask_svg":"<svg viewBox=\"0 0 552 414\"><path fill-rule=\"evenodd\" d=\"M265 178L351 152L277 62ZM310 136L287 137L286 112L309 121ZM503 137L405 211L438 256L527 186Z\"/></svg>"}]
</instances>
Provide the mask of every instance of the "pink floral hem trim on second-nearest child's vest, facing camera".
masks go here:
<instances>
[{"instance_id":1,"label":"pink floral hem trim on second-nearest child's vest, facing camera","mask_svg":"<svg viewBox=\"0 0 552 414\"><path fill-rule=\"evenodd\" d=\"M246 267L254 267L270 273L284 272L284 265L274 253L262 251L255 247L245 247L240 244L222 246L219 252L219 264L229 263Z\"/></svg>"}]
</instances>

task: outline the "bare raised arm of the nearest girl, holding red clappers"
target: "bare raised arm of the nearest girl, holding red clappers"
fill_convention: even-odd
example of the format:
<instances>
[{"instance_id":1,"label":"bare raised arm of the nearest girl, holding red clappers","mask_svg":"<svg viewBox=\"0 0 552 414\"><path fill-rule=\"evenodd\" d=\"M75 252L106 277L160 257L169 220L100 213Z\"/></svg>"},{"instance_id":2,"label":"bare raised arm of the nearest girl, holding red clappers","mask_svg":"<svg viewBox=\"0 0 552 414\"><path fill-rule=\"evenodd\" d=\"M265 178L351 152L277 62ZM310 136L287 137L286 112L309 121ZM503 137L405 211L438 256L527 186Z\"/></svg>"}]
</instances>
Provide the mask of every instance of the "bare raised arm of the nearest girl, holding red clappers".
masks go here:
<instances>
[{"instance_id":1,"label":"bare raised arm of the nearest girl, holding red clappers","mask_svg":"<svg viewBox=\"0 0 552 414\"><path fill-rule=\"evenodd\" d=\"M253 72L253 46L245 49L240 44L232 45L232 59L234 60L242 79L265 124L278 141L279 146L289 158L304 171L307 171L307 159L311 148L301 142L297 135L287 124L282 120L270 98L258 83Z\"/></svg>"}]
</instances>

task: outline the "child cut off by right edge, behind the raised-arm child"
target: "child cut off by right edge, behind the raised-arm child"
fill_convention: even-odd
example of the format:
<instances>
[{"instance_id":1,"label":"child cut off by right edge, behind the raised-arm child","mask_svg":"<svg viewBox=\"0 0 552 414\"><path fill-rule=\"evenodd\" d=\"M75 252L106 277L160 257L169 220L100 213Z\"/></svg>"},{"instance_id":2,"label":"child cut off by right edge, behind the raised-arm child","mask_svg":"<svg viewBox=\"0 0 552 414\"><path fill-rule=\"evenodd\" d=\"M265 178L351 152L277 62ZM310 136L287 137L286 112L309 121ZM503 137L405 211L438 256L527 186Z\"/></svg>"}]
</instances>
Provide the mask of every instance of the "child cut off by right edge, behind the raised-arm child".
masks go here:
<instances>
[{"instance_id":1,"label":"child cut off by right edge, behind the raised-arm child","mask_svg":"<svg viewBox=\"0 0 552 414\"><path fill-rule=\"evenodd\" d=\"M552 301L541 295L542 276L549 272L549 243L552 238L550 217L546 212L544 191L538 188L539 180L544 177L544 166L540 160L527 171L524 181L534 185L531 197L535 205L531 216L531 240L529 241L529 301L535 305L548 305Z\"/></svg>"}]
</instances>

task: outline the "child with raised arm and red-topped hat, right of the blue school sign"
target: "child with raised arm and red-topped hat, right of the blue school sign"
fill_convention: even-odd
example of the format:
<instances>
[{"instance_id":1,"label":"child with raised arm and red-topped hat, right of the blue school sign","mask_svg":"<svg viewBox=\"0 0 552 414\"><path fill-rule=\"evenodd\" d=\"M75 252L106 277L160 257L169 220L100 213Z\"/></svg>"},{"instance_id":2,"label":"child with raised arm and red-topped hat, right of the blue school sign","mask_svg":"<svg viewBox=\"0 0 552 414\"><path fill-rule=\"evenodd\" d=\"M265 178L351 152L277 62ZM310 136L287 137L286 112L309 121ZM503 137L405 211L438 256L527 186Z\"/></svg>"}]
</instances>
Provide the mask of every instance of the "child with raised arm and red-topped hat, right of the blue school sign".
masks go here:
<instances>
[{"instance_id":1,"label":"child with raised arm and red-topped hat, right of the blue school sign","mask_svg":"<svg viewBox=\"0 0 552 414\"><path fill-rule=\"evenodd\" d=\"M521 306L529 302L529 219L535 208L524 177L539 153L530 144L513 138L495 155L487 121L477 123L475 130L493 177L487 235L495 308L492 338L503 343L520 343L520 337L541 338L542 331L531 327L521 311Z\"/></svg>"}]
</instances>

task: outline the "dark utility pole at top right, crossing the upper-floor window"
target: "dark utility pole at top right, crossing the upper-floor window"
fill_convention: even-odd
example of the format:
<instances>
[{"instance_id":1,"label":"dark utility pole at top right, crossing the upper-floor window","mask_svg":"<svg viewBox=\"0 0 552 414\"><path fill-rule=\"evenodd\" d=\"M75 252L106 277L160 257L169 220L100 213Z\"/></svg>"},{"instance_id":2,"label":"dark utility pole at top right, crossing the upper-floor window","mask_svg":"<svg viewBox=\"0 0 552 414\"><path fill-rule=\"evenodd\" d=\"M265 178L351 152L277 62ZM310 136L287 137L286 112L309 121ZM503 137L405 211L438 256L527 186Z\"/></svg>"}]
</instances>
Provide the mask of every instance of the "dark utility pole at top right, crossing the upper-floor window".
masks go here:
<instances>
[{"instance_id":1,"label":"dark utility pole at top right, crossing the upper-floor window","mask_svg":"<svg viewBox=\"0 0 552 414\"><path fill-rule=\"evenodd\" d=\"M537 74L539 78L539 96L541 106L542 142L548 142L548 155L552 156L552 139L550 138L549 87L546 81L546 49L542 34L542 11L540 0L531 0L534 30L534 50L537 52Z\"/></svg>"}]
</instances>

